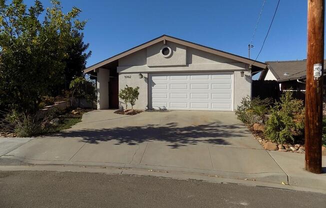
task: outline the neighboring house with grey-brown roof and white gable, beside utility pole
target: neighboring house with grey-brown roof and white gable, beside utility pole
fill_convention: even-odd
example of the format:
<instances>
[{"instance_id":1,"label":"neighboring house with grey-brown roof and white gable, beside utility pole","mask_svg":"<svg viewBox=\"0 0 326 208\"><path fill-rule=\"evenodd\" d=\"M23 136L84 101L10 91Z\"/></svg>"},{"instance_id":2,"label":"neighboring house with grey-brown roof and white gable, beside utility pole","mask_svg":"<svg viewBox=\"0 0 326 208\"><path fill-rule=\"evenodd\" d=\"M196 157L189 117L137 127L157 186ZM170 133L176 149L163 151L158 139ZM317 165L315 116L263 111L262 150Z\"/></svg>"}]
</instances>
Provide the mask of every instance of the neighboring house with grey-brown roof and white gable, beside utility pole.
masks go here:
<instances>
[{"instance_id":1,"label":"neighboring house with grey-brown roof and white gable, beside utility pole","mask_svg":"<svg viewBox=\"0 0 326 208\"><path fill-rule=\"evenodd\" d=\"M280 90L305 91L306 60L266 61L266 64L259 80L276 80Z\"/></svg>"}]
</instances>

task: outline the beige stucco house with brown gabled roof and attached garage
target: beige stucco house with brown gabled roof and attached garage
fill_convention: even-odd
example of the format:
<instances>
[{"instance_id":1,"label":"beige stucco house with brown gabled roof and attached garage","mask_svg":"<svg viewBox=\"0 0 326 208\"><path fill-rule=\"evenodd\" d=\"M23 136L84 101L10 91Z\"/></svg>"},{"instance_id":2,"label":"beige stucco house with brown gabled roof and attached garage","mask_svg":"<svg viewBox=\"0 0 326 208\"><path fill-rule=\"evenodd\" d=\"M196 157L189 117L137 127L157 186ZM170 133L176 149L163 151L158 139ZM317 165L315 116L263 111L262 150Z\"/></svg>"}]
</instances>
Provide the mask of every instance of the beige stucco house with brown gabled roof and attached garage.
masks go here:
<instances>
[{"instance_id":1,"label":"beige stucco house with brown gabled roof and attached garage","mask_svg":"<svg viewBox=\"0 0 326 208\"><path fill-rule=\"evenodd\" d=\"M263 62L162 35L84 72L97 75L97 108L123 108L118 91L139 86L135 109L233 111L251 95Z\"/></svg>"}]
</instances>

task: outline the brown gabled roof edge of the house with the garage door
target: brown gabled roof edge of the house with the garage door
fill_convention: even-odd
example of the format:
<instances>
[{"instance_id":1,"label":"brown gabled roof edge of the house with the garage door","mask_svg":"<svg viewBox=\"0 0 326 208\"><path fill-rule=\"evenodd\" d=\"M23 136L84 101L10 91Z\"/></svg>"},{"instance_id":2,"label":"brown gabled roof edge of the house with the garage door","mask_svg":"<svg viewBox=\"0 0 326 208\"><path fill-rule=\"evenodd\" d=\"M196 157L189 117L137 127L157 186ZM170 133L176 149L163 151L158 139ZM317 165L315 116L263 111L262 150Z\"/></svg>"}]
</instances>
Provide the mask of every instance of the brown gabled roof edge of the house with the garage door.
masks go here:
<instances>
[{"instance_id":1,"label":"brown gabled roof edge of the house with the garage door","mask_svg":"<svg viewBox=\"0 0 326 208\"><path fill-rule=\"evenodd\" d=\"M138 46L135 46L131 49L128 49L124 52L121 52L119 54L116 54L112 57L109 57L103 61L100 61L94 65L91 65L91 66L88 66L87 68L84 69L84 73L88 72L88 71L91 71L93 69L96 69L96 68L99 68L107 63L110 63L114 60L117 60L121 57L124 57L126 55L129 55L133 52L136 52L138 50L141 50L145 47L148 47L150 45L153 45L157 42L160 42L160 41L164 41L164 40L167 40L167 41L171 41L171 42L175 42L175 43L178 43L178 44L182 44L182 45L185 45L185 46L188 46L188 47L193 47L193 48L196 48L196 49L199 49L199 50L203 50L203 51L206 51L206 52L209 52L209 53L213 53L215 55L220 55L220 56L223 56L223 57L226 57L226 58L230 58L230 59L234 59L234 60L237 60L239 62L243 62L243 63L247 63L247 64L250 64L250 65L253 65L253 66L257 66L257 67L260 67L260 68L265 68L266 67L266 64L263 63L263 62L260 62L260 61L256 61L256 60L253 60L253 59L249 59L249 58L246 58L246 57L242 57L242 56L239 56L239 55L235 55L235 54L232 54L232 53L228 53L228 52L225 52L225 51L222 51L222 50L217 50L217 49L214 49L214 48L211 48L211 47L207 47L207 46L203 46L203 45L200 45L200 44L196 44L196 43L193 43L193 42L189 42L189 41L186 41L186 40L182 40L182 39L179 39L179 38L176 38L176 37L172 37L172 36L169 36L169 35L166 35L166 34L163 34L159 37L156 37L155 39L152 39L148 42L145 42L145 43L142 43Z\"/></svg>"}]
</instances>

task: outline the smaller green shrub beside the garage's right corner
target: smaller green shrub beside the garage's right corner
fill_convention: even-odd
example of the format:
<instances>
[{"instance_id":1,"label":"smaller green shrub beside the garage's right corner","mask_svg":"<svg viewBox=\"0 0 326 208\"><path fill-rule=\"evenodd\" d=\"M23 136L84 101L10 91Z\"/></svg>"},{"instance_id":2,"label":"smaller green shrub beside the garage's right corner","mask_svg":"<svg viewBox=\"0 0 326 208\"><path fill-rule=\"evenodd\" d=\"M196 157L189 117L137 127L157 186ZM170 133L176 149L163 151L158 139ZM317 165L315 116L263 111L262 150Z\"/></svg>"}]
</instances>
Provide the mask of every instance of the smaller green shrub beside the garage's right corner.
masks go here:
<instances>
[{"instance_id":1,"label":"smaller green shrub beside the garage's right corner","mask_svg":"<svg viewBox=\"0 0 326 208\"><path fill-rule=\"evenodd\" d=\"M245 96L241 100L241 104L237 106L235 114L239 120L244 123L265 123L267 113L272 102L271 98L260 99L255 97L251 100L250 96Z\"/></svg>"}]
</instances>

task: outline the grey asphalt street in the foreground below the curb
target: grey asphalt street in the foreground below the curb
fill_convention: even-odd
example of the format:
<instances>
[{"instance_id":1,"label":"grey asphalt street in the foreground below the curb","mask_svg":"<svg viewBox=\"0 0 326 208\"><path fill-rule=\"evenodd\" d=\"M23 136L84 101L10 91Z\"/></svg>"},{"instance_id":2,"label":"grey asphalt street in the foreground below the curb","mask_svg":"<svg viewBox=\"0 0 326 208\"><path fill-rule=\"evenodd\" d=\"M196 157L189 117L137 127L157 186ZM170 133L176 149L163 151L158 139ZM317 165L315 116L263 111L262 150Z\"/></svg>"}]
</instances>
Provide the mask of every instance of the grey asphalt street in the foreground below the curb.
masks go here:
<instances>
[{"instance_id":1,"label":"grey asphalt street in the foreground below the curb","mask_svg":"<svg viewBox=\"0 0 326 208\"><path fill-rule=\"evenodd\" d=\"M87 172L0 171L0 207L325 207L321 193Z\"/></svg>"}]
</instances>

